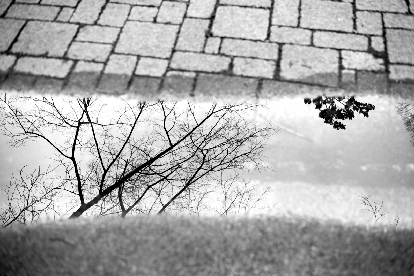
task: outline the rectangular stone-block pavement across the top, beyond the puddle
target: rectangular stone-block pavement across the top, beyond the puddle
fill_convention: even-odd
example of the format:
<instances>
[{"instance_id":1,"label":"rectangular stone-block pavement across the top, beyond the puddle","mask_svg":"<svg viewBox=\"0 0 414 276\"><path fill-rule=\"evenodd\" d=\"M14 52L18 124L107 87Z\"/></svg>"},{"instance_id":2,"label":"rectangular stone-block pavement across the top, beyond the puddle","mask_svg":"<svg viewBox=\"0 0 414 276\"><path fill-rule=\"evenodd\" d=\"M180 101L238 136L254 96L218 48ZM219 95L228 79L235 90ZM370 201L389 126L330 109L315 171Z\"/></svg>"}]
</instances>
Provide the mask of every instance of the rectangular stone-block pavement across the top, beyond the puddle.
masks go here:
<instances>
[{"instance_id":1,"label":"rectangular stone-block pavement across the top, beyond the puddle","mask_svg":"<svg viewBox=\"0 0 414 276\"><path fill-rule=\"evenodd\" d=\"M414 0L0 0L0 89L414 95Z\"/></svg>"}]
</instances>

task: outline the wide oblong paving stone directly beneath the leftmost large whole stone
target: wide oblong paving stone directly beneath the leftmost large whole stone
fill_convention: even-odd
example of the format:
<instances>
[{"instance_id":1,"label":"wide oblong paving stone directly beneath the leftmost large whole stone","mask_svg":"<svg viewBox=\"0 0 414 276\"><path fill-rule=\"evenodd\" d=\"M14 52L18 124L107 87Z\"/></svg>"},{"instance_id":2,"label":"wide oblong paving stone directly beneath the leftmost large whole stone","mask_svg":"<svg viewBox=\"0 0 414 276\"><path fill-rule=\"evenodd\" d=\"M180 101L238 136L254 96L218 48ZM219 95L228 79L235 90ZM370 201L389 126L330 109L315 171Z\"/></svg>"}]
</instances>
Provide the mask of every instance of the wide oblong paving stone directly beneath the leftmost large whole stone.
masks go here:
<instances>
[{"instance_id":1,"label":"wide oblong paving stone directly beneath the leftmost large whole stone","mask_svg":"<svg viewBox=\"0 0 414 276\"><path fill-rule=\"evenodd\" d=\"M44 75L55 78L65 78L69 73L73 62L70 60L43 58L43 57L21 57L14 66L14 71L29 73L33 75Z\"/></svg>"}]
</instances>

